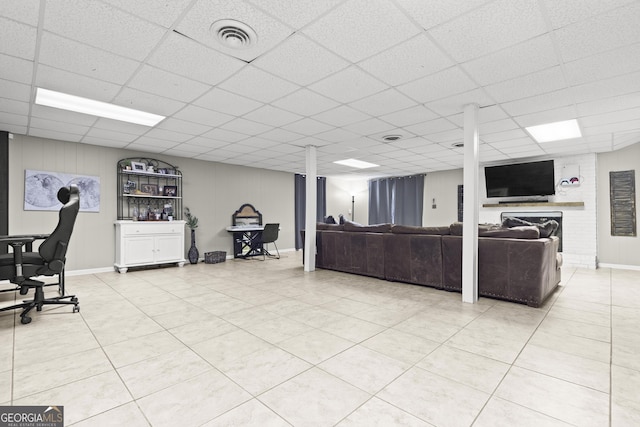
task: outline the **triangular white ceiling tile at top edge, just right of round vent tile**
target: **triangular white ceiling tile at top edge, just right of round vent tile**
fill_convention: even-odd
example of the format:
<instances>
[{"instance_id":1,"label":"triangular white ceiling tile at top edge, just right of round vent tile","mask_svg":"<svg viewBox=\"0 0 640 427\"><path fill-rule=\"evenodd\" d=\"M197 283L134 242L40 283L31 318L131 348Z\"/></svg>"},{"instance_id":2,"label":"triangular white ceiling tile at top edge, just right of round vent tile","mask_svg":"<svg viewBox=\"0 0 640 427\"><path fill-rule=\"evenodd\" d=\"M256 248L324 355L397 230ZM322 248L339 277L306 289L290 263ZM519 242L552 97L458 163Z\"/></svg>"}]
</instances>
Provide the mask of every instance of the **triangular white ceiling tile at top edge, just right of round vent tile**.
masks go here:
<instances>
[{"instance_id":1,"label":"triangular white ceiling tile at top edge, just right of round vent tile","mask_svg":"<svg viewBox=\"0 0 640 427\"><path fill-rule=\"evenodd\" d=\"M250 0L265 13L300 29L343 0Z\"/></svg>"}]
</instances>

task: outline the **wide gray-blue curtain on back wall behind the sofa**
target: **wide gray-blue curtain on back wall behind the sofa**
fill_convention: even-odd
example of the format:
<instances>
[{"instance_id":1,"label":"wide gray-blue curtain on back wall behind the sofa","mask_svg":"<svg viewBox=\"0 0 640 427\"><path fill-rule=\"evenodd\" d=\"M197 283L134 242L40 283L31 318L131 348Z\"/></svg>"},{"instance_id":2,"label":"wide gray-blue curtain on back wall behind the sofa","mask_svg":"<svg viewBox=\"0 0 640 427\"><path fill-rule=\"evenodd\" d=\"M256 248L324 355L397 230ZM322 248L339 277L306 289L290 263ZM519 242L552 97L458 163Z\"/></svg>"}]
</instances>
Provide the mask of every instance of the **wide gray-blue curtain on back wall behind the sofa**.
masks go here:
<instances>
[{"instance_id":1,"label":"wide gray-blue curtain on back wall behind the sofa","mask_svg":"<svg viewBox=\"0 0 640 427\"><path fill-rule=\"evenodd\" d=\"M424 175L369 181L369 224L422 225Z\"/></svg>"}]
</instances>

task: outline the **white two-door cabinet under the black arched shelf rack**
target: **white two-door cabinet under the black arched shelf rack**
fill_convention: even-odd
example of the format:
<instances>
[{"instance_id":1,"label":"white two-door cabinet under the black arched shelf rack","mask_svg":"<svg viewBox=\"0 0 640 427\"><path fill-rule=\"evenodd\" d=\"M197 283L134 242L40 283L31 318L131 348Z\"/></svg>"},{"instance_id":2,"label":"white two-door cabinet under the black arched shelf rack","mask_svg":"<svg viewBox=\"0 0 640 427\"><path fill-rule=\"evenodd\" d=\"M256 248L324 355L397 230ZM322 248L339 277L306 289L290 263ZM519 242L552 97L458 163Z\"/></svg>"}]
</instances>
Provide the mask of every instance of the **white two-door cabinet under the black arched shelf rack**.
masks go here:
<instances>
[{"instance_id":1,"label":"white two-door cabinet under the black arched shelf rack","mask_svg":"<svg viewBox=\"0 0 640 427\"><path fill-rule=\"evenodd\" d=\"M176 263L184 266L184 221L115 221L116 262L129 267Z\"/></svg>"}]
</instances>

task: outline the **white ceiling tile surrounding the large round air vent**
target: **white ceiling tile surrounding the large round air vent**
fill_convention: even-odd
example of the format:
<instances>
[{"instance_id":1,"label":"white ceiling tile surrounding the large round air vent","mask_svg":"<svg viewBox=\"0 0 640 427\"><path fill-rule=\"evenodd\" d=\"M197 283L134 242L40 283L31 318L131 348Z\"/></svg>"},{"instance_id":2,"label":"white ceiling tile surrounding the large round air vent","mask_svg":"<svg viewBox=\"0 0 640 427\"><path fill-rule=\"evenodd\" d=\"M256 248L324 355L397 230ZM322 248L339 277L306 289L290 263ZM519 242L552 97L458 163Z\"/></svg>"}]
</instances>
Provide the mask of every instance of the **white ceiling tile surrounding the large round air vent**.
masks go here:
<instances>
[{"instance_id":1,"label":"white ceiling tile surrounding the large round air vent","mask_svg":"<svg viewBox=\"0 0 640 427\"><path fill-rule=\"evenodd\" d=\"M257 40L245 49L232 49L221 44L210 31L220 19L234 19L248 25ZM252 61L289 37L292 30L271 18L248 2L226 0L197 0L176 26L176 30L194 40L227 55Z\"/></svg>"}]
</instances>

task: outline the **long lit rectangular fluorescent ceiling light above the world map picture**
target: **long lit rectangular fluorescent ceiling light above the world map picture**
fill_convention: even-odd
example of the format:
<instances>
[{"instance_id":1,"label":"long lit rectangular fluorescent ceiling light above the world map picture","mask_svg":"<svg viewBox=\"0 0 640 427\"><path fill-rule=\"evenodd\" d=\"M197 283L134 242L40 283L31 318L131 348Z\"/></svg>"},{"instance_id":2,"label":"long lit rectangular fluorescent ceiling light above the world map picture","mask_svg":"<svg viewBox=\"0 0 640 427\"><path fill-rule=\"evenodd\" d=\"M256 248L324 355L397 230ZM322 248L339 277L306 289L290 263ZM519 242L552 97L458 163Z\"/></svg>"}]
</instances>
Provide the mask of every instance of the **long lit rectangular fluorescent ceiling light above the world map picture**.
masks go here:
<instances>
[{"instance_id":1,"label":"long lit rectangular fluorescent ceiling light above the world map picture","mask_svg":"<svg viewBox=\"0 0 640 427\"><path fill-rule=\"evenodd\" d=\"M155 126L165 119L165 116L42 89L40 87L36 89L36 104L144 126Z\"/></svg>"}]
</instances>

